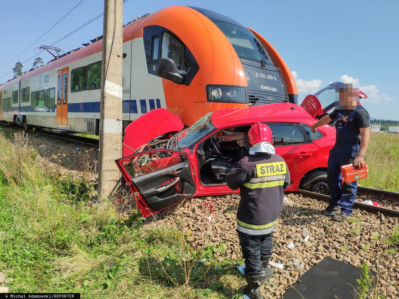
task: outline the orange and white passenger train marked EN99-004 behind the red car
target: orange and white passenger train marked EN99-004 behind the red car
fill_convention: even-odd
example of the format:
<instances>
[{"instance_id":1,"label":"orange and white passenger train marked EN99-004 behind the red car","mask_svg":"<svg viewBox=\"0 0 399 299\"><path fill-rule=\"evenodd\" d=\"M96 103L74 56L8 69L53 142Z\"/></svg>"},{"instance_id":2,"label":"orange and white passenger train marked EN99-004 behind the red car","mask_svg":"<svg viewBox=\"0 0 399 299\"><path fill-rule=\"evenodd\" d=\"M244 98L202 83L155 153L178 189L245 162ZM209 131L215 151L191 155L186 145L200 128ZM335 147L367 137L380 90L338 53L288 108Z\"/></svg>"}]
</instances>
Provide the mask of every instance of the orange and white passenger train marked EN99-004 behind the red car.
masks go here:
<instances>
[{"instance_id":1,"label":"orange and white passenger train marked EN99-004 behind the red car","mask_svg":"<svg viewBox=\"0 0 399 299\"><path fill-rule=\"evenodd\" d=\"M98 134L101 37L0 85L0 120ZM191 125L209 111L296 103L286 63L259 33L210 10L170 6L123 27L124 126L166 108Z\"/></svg>"}]
</instances>

